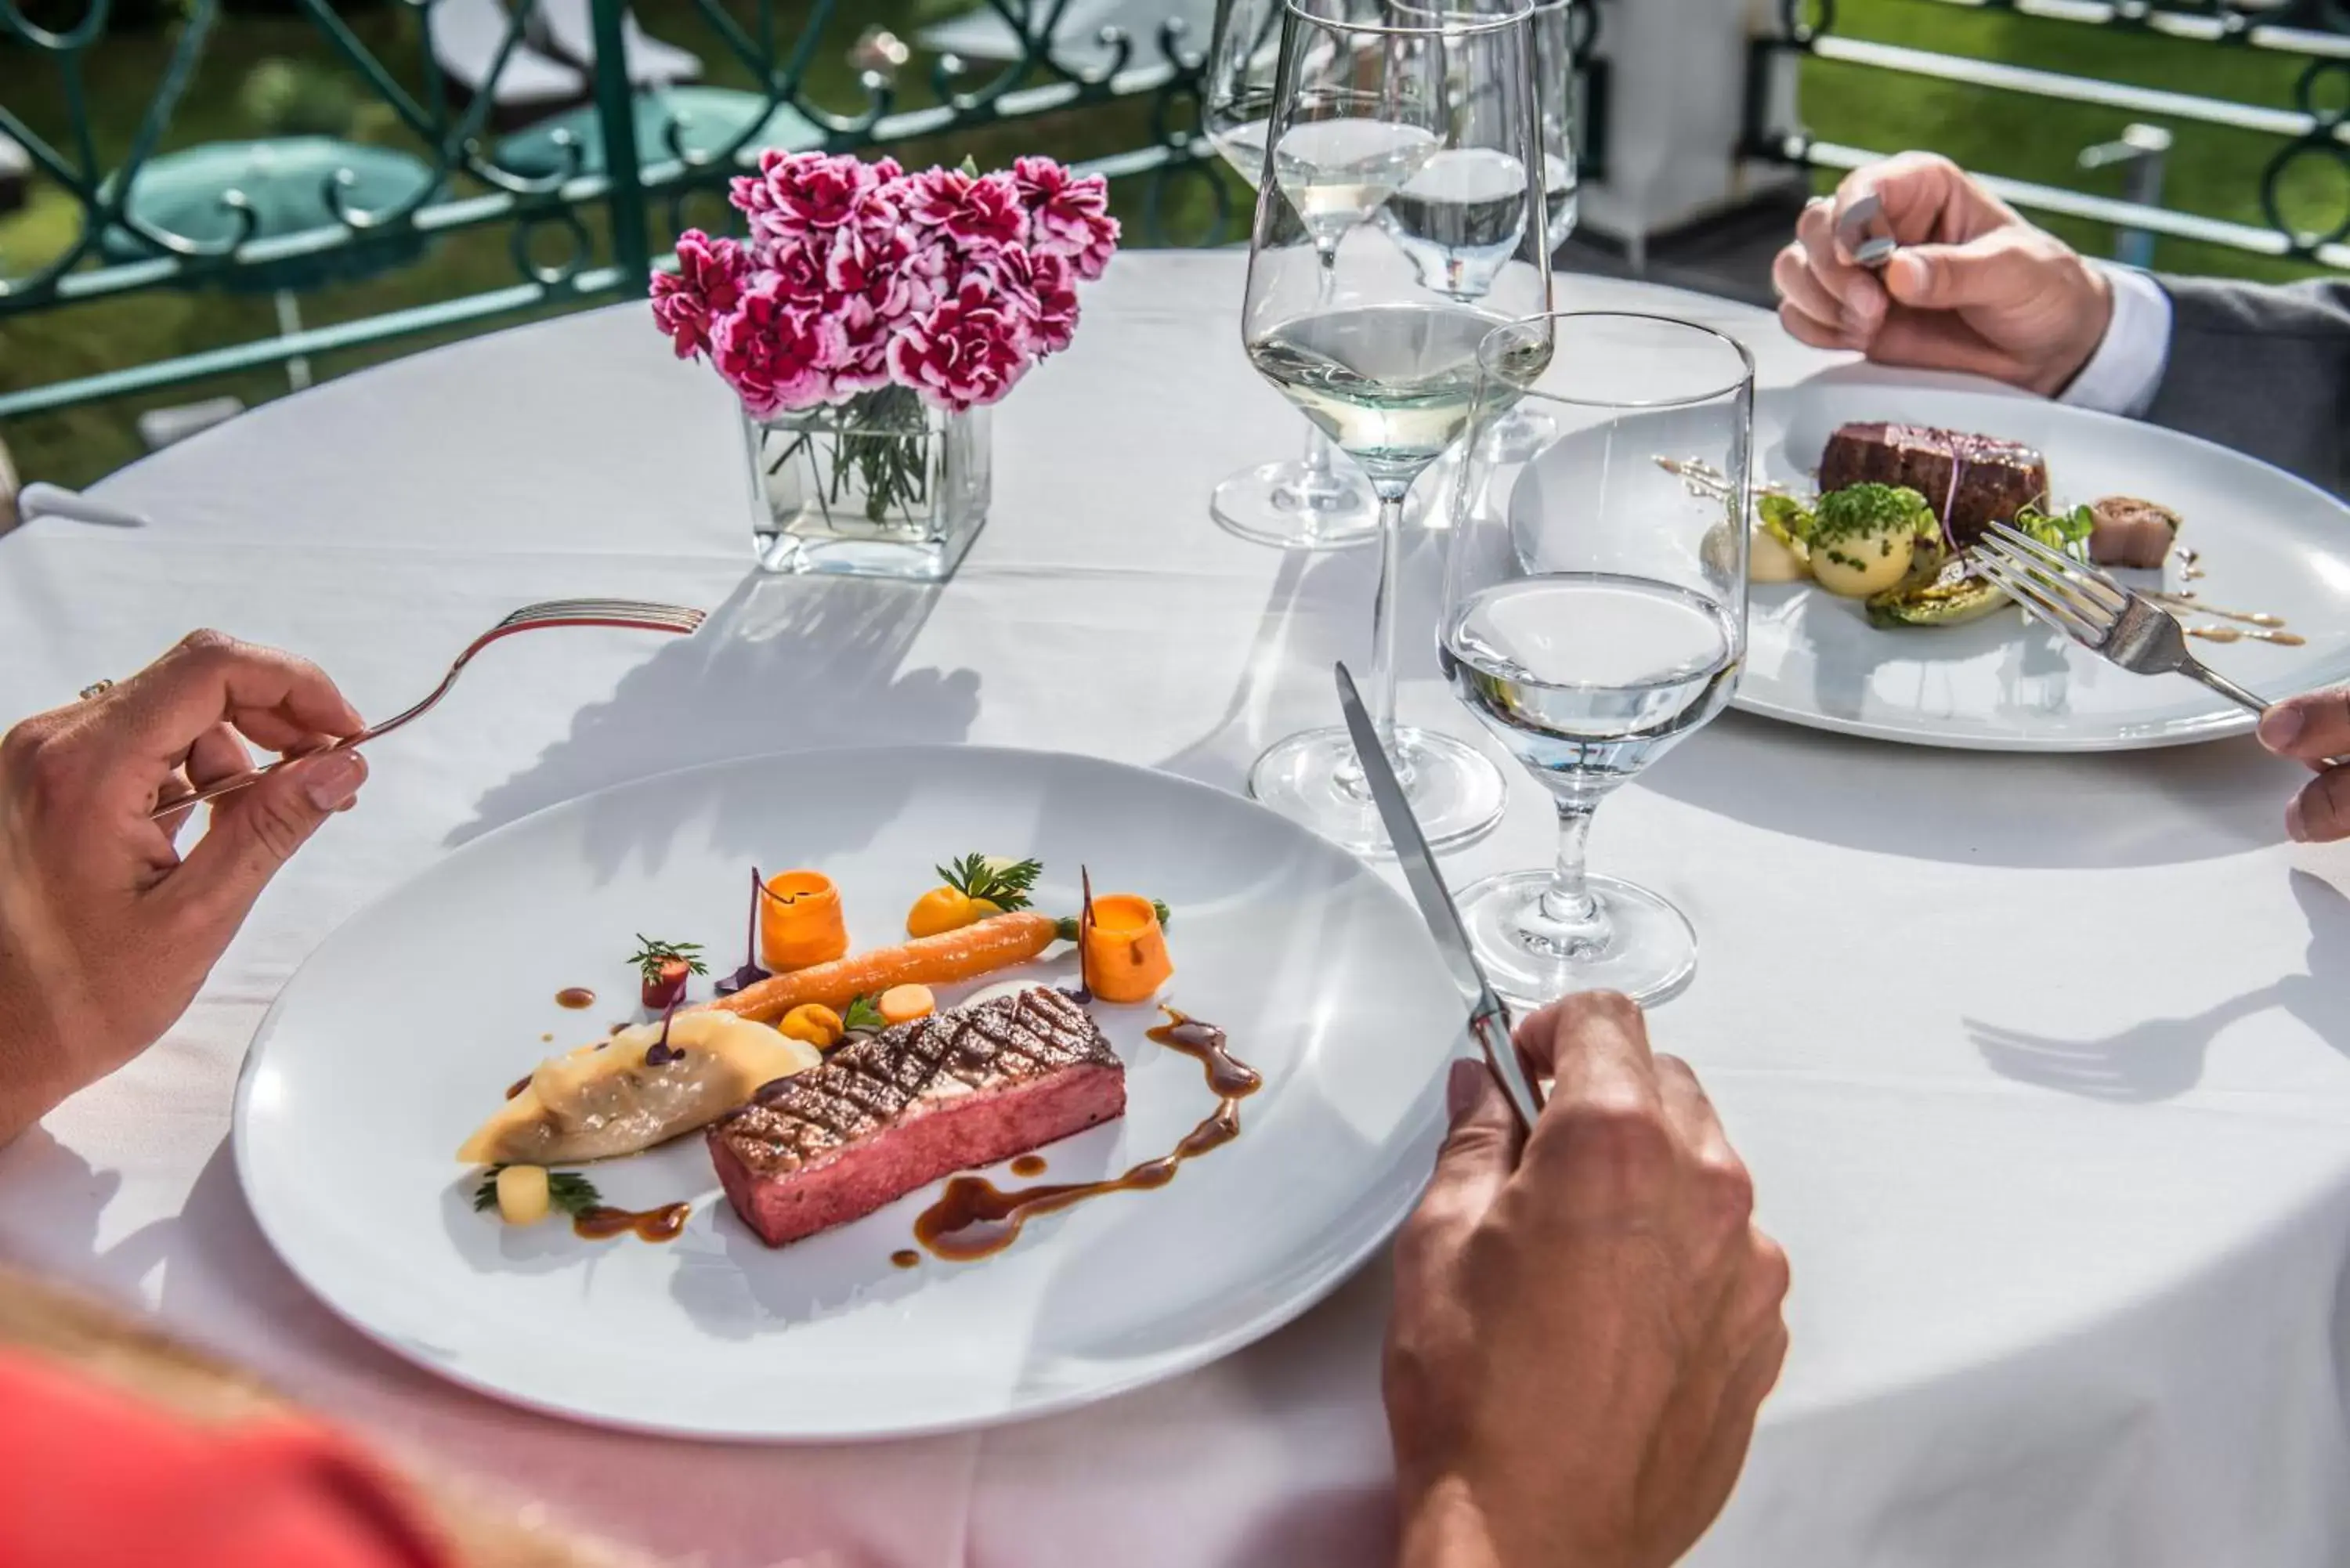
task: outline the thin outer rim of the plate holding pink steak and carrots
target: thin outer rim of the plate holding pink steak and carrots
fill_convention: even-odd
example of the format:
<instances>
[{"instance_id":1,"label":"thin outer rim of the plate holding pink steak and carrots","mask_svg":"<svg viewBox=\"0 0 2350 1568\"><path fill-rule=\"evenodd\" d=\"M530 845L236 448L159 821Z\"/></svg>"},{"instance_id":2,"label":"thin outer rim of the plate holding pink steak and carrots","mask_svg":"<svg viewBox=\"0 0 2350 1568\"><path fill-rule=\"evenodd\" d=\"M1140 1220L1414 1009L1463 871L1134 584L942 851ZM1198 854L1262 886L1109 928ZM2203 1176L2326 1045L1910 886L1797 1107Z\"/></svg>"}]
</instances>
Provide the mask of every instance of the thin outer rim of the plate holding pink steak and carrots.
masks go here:
<instances>
[{"instance_id":1,"label":"thin outer rim of the plate holding pink steak and carrots","mask_svg":"<svg viewBox=\"0 0 2350 1568\"><path fill-rule=\"evenodd\" d=\"M585 790L580 795L571 795L571 797L559 799L559 802L548 802L545 806L526 811L526 813L522 813L522 816L517 816L517 818L512 818L508 823L498 823L489 832L484 832L484 835L479 835L475 839L468 839L465 844L442 849L442 853L437 853L430 860L425 860L423 865L414 867L409 875L400 877L388 889L378 891L374 898L369 898L357 910L352 910L350 914L345 914L343 919L338 919L331 929L327 929L320 936L320 940L310 947L310 952L306 952L303 959L294 966L294 971L287 973L284 985L280 985L277 994L270 997L270 1006L268 1006L268 1011L263 1011L261 1023L254 1025L254 1034L247 1041L244 1056L242 1056L242 1060L237 1065L237 1088L235 1088L235 1100L233 1100L233 1107L230 1107L230 1133L228 1133L230 1157L233 1157L233 1166L235 1166L235 1173L237 1173L237 1192L244 1199L244 1208L254 1218L254 1227L261 1232L263 1241L268 1241L270 1253L277 1258L277 1262L289 1274L294 1274L294 1279L301 1281L303 1291L315 1302L320 1302L322 1307L327 1307L327 1312L331 1312L338 1321L343 1321L350 1328L355 1328L371 1345L381 1345L383 1349L388 1349L390 1354L395 1354L407 1366L421 1368L421 1371L430 1373L432 1378L439 1378L439 1380L444 1380L449 1385L470 1389L470 1392L482 1394L486 1399L494 1399L494 1401L498 1401L503 1406L512 1406L512 1408L519 1408L519 1410L533 1410L538 1415L550 1415L550 1418L559 1418L559 1420L566 1420L566 1422L576 1422L576 1425L585 1425L585 1427L597 1427L597 1429L606 1429L606 1432L634 1432L634 1434L644 1434L644 1436L672 1436L672 1439L693 1439L693 1441L707 1441L707 1443L761 1446L761 1448L891 1443L891 1441L912 1441L912 1439L928 1439L928 1436L954 1436L954 1434L964 1434L964 1432L985 1432L985 1429L994 1429L994 1427L1010 1427L1010 1425L1022 1425L1022 1422L1032 1422L1032 1420L1043 1420L1043 1418L1050 1418L1050 1415L1065 1415L1069 1410L1081 1410L1086 1406L1095 1406L1095 1403L1102 1403L1107 1399L1116 1399L1119 1394L1133 1394L1137 1389L1144 1389L1144 1387L1152 1387L1152 1385L1159 1385L1159 1382L1170 1382L1170 1380L1182 1378L1187 1373L1194 1373L1194 1371L1198 1371L1203 1366L1213 1366L1215 1361L1222 1361L1224 1356L1236 1354L1236 1352L1255 1345L1257 1340L1264 1340L1264 1338L1278 1333L1281 1328L1295 1324L1300 1316L1304 1316L1307 1312L1311 1312L1314 1307L1318 1307L1321 1302L1325 1302L1340 1286L1344 1286L1347 1281L1351 1281L1363 1269L1363 1265L1370 1262L1370 1258L1379 1248L1384 1248L1394 1239L1396 1229L1410 1215L1412 1206L1417 1206L1419 1190L1424 1190L1424 1185L1426 1185L1424 1180L1422 1180L1419 1187L1412 1190L1412 1197L1403 1206L1396 1208L1396 1213L1382 1215L1382 1218L1365 1218L1365 1220L1361 1220L1358 1222L1358 1234L1344 1248L1328 1253L1325 1262L1311 1274L1311 1279L1307 1284L1302 1284L1300 1288L1295 1288L1288 1298L1269 1305L1267 1309L1257 1312L1255 1316L1246 1319L1243 1324L1236 1324L1236 1326L1227 1328L1220 1335L1213 1335L1213 1338L1206 1338L1206 1340L1196 1340L1194 1345L1187 1345L1182 1352L1170 1352L1170 1354L1154 1356L1154 1359L1147 1359L1147 1361L1128 1363L1130 1371L1123 1373L1123 1375L1102 1378L1097 1382L1088 1382L1083 1387L1072 1387L1072 1389L1065 1389L1065 1392L1058 1392L1058 1394L1027 1396L1027 1399L1020 1399L1018 1394L1013 1394L1013 1396L1008 1396L1003 1401L1003 1408L996 1410L996 1413L973 1413L973 1415L959 1415L959 1418L940 1418L940 1420L931 1420L931 1422L893 1422L893 1425L862 1425L862 1427L839 1427L839 1429L799 1429L799 1432L719 1429L719 1427L700 1427L700 1425L691 1425L691 1422L674 1422L674 1420L658 1420L658 1418L634 1420L634 1418L618 1415L618 1413L611 1413L611 1410L595 1410L595 1408L566 1406L566 1403L559 1403L559 1401L552 1401L552 1399L538 1399L538 1396L531 1396L531 1394L512 1392L512 1389L501 1387L498 1382L494 1382L489 1378L479 1378L479 1375L472 1375L472 1373L461 1371L456 1366L449 1366L446 1361L432 1361L432 1359L418 1356L414 1352L414 1347L395 1340L388 1333L376 1331L376 1326L362 1321L352 1309L348 1309L331 1293L327 1293L303 1269L303 1265L294 1258L294 1253L280 1241L280 1237L270 1229L270 1220L263 1213L263 1206L254 1197L254 1173L251 1173L251 1168L247 1164L247 1159L249 1159L247 1157L247 1143L249 1143L249 1131L247 1128L249 1128L249 1114L251 1114L251 1086L254 1086L256 1067L258 1067L258 1063L263 1058L263 1044L266 1044L268 1034L273 1032L273 1027L277 1023L277 1016L280 1016L280 1009L282 1009L282 1001L284 1001L284 992L294 985L294 978L301 976L301 971L317 957L317 952L329 940L334 940L345 926L357 924L362 917L371 914L378 905L383 905L390 898L400 896L411 882L430 875L439 865L446 865L451 858L472 851L477 844L498 839L498 837L510 835L510 832L519 832L526 825L538 823L538 818L552 816L557 811L576 811L576 809L585 806L588 802L597 802L597 799L604 799L604 797L611 797L611 795L620 795L625 790L653 788L653 785L660 785L660 783L667 783L667 780L679 780L679 778L686 778L686 776L693 776L693 773L717 773L717 771L726 771L726 769L747 769L747 766L771 764L771 762L780 762L780 759L787 759L787 757L806 762L811 757L815 757L815 759L820 759L820 757L886 757L886 755L907 755L907 752L921 752L921 755L954 752L954 755L961 755L961 757L989 755L989 757L1006 757L1006 759L1053 759L1053 762L1072 762L1074 759L1074 762L1081 762L1086 766L1112 769L1112 771L1119 771L1119 773L1142 773L1142 776L1152 778L1154 783L1175 785L1182 792L1210 795L1210 797L1217 797L1220 802L1238 804L1238 806L1246 806L1250 811L1262 811L1269 818L1281 820L1283 827L1297 832L1300 839L1307 844L1307 849L1311 853L1328 853L1328 856L1335 856L1340 860L1351 863L1375 886L1372 898L1391 900L1396 910L1401 910L1401 912L1408 914L1408 922L1410 922L1412 929L1426 931L1426 922L1422 919L1419 910L1403 893L1398 893L1377 872L1377 867L1372 867L1361 856L1354 856L1351 851L1342 849L1340 844L1332 844L1332 842L1323 839L1321 835L1316 835L1316 832L1311 832L1311 830L1307 830L1307 827L1302 827L1297 823L1290 823L1278 811L1271 811L1269 806L1262 806L1262 804L1257 804L1255 799L1250 799L1246 795L1236 795L1231 790L1220 790L1220 788L1215 788L1210 783L1203 783L1198 778L1187 778L1182 773L1170 773L1170 771L1163 771L1163 769L1152 769L1152 766L1142 766L1142 764L1133 764L1133 762L1114 762L1109 757L1093 757L1088 752L1058 752L1058 750L1025 748L1025 745L964 745L964 743L940 743L940 741L909 741L909 743L898 743L898 745L822 745L822 748L804 748L804 750L783 748L783 750L771 750L771 752L747 752L743 757L717 757L717 759L710 759L710 762L696 762L696 764L686 764L686 766L660 769L656 773L642 773L637 778L620 778L620 780L613 780L609 785L599 785L595 790ZM1434 952L1436 938L1434 936L1424 936L1424 940L1429 943L1431 959L1441 961L1441 954ZM1462 1037L1452 1041L1452 1048L1450 1048L1450 1053L1445 1058L1434 1058L1431 1056L1431 1060L1436 1060L1436 1063L1443 1065L1443 1063L1450 1063L1450 1060L1455 1060L1459 1056L1459 1048L1466 1041L1466 1006L1469 1004L1464 999L1462 1001ZM1408 1131L1410 1131L1410 1135L1426 1138L1429 1133L1441 1131L1443 1124L1445 1124L1445 1114L1443 1114L1443 1074L1441 1072L1429 1079L1429 1086L1422 1091L1419 1103L1422 1103L1422 1117L1419 1117L1422 1126L1408 1128ZM1405 1143L1410 1143L1410 1138L1405 1138ZM1429 1175L1434 1175L1434 1161L1429 1166Z\"/></svg>"}]
</instances>

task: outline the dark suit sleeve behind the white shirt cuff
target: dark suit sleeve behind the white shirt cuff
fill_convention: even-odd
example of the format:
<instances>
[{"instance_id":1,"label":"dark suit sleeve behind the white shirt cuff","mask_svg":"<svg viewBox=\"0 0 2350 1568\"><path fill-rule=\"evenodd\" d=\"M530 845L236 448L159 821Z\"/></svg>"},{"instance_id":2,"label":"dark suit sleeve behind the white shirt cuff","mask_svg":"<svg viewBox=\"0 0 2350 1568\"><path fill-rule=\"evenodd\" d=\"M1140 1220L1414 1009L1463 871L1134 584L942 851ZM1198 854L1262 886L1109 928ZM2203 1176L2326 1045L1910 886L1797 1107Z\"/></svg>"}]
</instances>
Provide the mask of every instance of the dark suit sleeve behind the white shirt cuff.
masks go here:
<instances>
[{"instance_id":1,"label":"dark suit sleeve behind the white shirt cuff","mask_svg":"<svg viewBox=\"0 0 2350 1568\"><path fill-rule=\"evenodd\" d=\"M2146 418L2350 494L2350 282L2157 282L2171 353Z\"/></svg>"}]
</instances>

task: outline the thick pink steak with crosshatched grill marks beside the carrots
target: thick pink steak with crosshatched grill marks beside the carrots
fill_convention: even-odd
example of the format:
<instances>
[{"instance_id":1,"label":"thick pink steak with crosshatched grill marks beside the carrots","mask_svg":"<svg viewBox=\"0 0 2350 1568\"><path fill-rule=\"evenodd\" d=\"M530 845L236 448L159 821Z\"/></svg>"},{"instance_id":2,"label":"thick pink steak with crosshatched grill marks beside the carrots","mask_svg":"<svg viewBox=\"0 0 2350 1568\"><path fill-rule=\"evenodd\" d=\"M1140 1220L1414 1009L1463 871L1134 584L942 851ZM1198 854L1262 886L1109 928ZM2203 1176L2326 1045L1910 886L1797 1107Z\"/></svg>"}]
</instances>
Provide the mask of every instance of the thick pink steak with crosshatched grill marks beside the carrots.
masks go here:
<instances>
[{"instance_id":1,"label":"thick pink steak with crosshatched grill marks beside the carrots","mask_svg":"<svg viewBox=\"0 0 2350 1568\"><path fill-rule=\"evenodd\" d=\"M1034 987L839 1046L710 1128L710 1154L743 1220L780 1246L1123 1110L1126 1067L1100 1027Z\"/></svg>"}]
</instances>

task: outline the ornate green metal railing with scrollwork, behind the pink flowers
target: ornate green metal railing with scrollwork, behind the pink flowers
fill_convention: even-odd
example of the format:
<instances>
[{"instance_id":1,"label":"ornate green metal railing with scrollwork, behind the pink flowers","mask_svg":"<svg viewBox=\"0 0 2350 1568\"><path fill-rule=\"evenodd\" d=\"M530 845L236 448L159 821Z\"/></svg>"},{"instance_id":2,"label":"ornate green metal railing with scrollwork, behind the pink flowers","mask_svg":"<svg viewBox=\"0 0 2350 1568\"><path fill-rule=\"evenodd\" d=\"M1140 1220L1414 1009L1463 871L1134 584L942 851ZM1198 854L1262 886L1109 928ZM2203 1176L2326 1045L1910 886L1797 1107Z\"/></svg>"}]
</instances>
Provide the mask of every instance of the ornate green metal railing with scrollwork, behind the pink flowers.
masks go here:
<instances>
[{"instance_id":1,"label":"ornate green metal railing with scrollwork, behind the pink flowers","mask_svg":"<svg viewBox=\"0 0 2350 1568\"><path fill-rule=\"evenodd\" d=\"M432 9L442 0L392 0L411 14L430 38ZM902 143L945 136L964 129L1041 120L1083 110L1107 110L1140 103L1142 134L1133 134L1135 115L1121 125L1135 146L1086 160L1086 172L1149 179L1144 242L1163 242L1154 233L1170 181L1198 181L1210 205L1215 230L1229 226L1229 193L1210 167L1206 143L1196 134L1196 96L1206 40L1194 40L1182 24L1166 24L1152 40L1104 33L1107 59L1079 71L1055 59L1055 40L1067 0L987 0L1027 40L1020 59L966 71L952 56L940 56L928 71L928 106L902 108L900 87L888 71L865 71L858 80L860 103L848 108L815 101L808 87L818 49L844 49L862 19L862 0L806 0L792 7L804 21L792 38L780 35L776 0L691 0L693 14L707 28L698 47L712 47L731 66L731 75L750 75L761 108L745 118L731 143L689 150L686 120L670 115L653 146L639 146L632 113L634 89L627 82L620 0L595 0L595 134L602 158L590 167L588 148L569 143L566 165L543 174L524 174L501 165L491 110L496 82L524 45L533 21L533 0L512 0L503 42L489 68L489 85L461 94L435 56L430 42L418 52L411 73L395 71L369 49L329 0L296 0L298 14L331 45L334 56L364 82L364 92L388 106L397 134L432 172L430 186L395 207L362 212L329 186L331 223L301 233L261 235L251 214L240 214L235 233L219 240L195 240L172 233L129 212L129 193L141 167L164 143L174 110L181 106L221 26L221 0L183 0L162 80L141 115L129 148L103 160L92 134L87 94L89 59L108 42L113 0L89 0L89 9L70 28L38 26L21 0L0 0L0 132L24 143L35 181L54 181L80 209L78 237L56 256L19 277L0 277L0 322L31 310L89 306L143 289L235 284L266 268L303 261L348 259L369 249L416 247L458 230L505 226L512 235L517 280L508 287L392 310L364 320L313 327L207 353L179 355L150 364L54 381L47 386L0 393L0 418L61 409L99 397L176 386L235 369L282 364L308 355L381 343L388 339L491 322L538 306L634 294L644 287L656 259L656 214L670 228L684 226L686 197L724 190L726 181L757 165L757 139L778 108L797 110L820 134L827 150L853 150L877 143ZM19 73L54 71L63 94L68 127L42 136L9 110L9 82ZM461 99L465 99L461 103ZM230 202L235 209L235 202ZM592 233L590 214L602 219ZM562 254L545 259L548 233L562 237ZM153 254L148 259L108 261L106 235L134 235Z\"/></svg>"}]
</instances>

